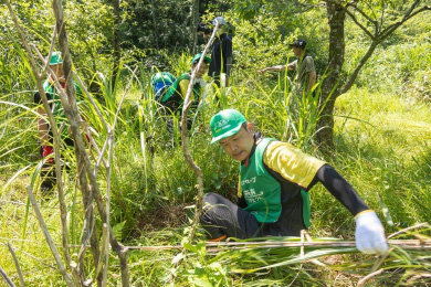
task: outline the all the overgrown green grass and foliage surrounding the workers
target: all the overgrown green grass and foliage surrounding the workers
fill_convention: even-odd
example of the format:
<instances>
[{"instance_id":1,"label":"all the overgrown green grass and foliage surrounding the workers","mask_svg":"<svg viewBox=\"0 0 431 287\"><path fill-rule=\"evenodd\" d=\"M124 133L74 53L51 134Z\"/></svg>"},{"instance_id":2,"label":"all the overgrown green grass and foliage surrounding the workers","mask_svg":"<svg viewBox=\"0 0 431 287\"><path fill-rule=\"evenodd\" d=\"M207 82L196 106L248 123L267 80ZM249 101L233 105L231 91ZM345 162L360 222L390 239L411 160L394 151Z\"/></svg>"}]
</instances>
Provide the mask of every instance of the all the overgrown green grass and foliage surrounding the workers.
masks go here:
<instances>
[{"instance_id":1,"label":"all the overgrown green grass and foliage surrounding the workers","mask_svg":"<svg viewBox=\"0 0 431 287\"><path fill-rule=\"evenodd\" d=\"M220 2L218 8L228 8L223 7L223 1L216 2ZM231 86L222 91L207 86L206 99L199 107L199 116L190 132L190 148L193 159L202 168L204 190L216 191L232 200L236 196L236 164L223 155L220 147L209 146L209 119L220 108L214 104L216 93L219 93L223 99L222 107L240 109L265 136L287 140L307 152L325 158L378 212L387 234L420 222L430 223L429 14L418 15L385 42L366 63L356 86L337 99L335 150L325 156L315 145L317 98L305 99L299 119L296 119L285 108L290 98L287 75L257 76L256 72L263 66L288 62L293 54L287 43L304 36L311 43L322 84L327 57L327 26L323 24L327 20L324 12L317 9L288 17L285 13L271 17L277 11L274 4L245 20L241 18L242 10L238 4L248 1L234 2L235 7L223 12L236 28ZM155 3L161 4L159 1ZM188 11L186 3L168 1L166 11L183 14ZM151 50L153 56L148 56L147 49L155 47L149 33L153 28L137 26L136 23L133 25L133 19L144 11L147 14L150 8L143 6L134 9L136 6L138 2L132 1L124 8L122 29L124 39L128 40L123 46L124 63L115 86L111 84L113 19L108 4L99 1L85 1L85 4L67 1L72 59L77 74L88 87L93 87L91 92L108 123L114 120L127 83L132 83L115 129L112 161L111 225L116 237L127 246L178 246L186 243L191 225L196 177L185 162L180 131L176 129L175 135L171 135L166 129L165 117L154 100L149 79L154 66L169 68L177 75L188 68L189 46L185 44L188 40L176 40L175 47L167 46L157 52ZM30 41L46 54L53 23L49 3L20 1L14 4L14 9ZM251 13L250 9L244 11ZM218 13L219 10L209 12ZM36 136L39 115L32 103L34 76L3 6L0 13L3 31L0 36L0 267L13 281L19 281L7 246L9 242L15 251L27 286L64 286L25 193L25 188L33 179L34 191L38 190L36 172L41 162ZM174 20L171 18L169 21ZM139 29L136 30L139 33L130 26ZM357 64L367 43L364 34L351 22L347 23L346 29L345 70L348 73ZM159 34L159 44L169 42L169 35ZM177 36L181 36L181 33L177 33ZM136 44L139 41L144 43L143 47ZM138 73L133 75L132 71L136 66ZM107 130L94 109L86 116L94 129L94 139L102 147ZM67 160L72 167L75 166L72 152ZM102 190L106 188L105 179L106 173L101 170L98 180ZM72 259L76 261L84 224L76 170L72 168L64 172L63 180L71 254ZM313 237L351 240L353 216L328 194L319 185L312 192L309 234ZM42 199L38 193L35 195L53 241L61 248L59 200L55 195L48 199ZM96 228L101 230L101 222L96 222ZM422 226L420 232L407 232L398 238L429 240L429 226ZM298 248L221 249L214 255L203 241L203 234L199 233L192 244L185 244L187 256L183 258L183 253L178 248L130 249L127 257L130 283L135 286L164 286L168 285L174 274L176 279L171 284L175 286L328 286L333 283L337 286L355 286L371 272L376 261L375 256L360 255L355 248L325 251L323 253L328 256L322 261L332 266L327 268L316 266L314 262L294 262L299 255ZM180 258L183 259L181 264L172 268L174 262ZM292 265L269 267L290 258L293 259ZM90 255L85 256L87 266L92 266L92 261ZM381 268L381 274L366 281L368 286L431 285L428 253L396 247ZM91 277L94 270L88 267L87 272ZM119 272L118 259L111 256L109 285L119 285Z\"/></svg>"}]
</instances>

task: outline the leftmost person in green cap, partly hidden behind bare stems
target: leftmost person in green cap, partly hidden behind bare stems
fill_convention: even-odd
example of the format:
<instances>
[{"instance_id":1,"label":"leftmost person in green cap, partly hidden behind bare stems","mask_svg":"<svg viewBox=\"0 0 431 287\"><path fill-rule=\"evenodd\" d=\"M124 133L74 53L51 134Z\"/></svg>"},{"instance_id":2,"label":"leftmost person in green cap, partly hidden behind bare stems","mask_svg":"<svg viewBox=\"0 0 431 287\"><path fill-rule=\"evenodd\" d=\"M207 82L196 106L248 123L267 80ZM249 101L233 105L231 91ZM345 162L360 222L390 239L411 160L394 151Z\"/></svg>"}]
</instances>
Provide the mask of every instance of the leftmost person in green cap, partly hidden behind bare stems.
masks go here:
<instances>
[{"instance_id":1,"label":"leftmost person in green cap, partly hidden behind bare stems","mask_svg":"<svg viewBox=\"0 0 431 287\"><path fill-rule=\"evenodd\" d=\"M73 146L73 140L69 137L67 120L63 110L63 106L60 100L59 91L54 83L59 81L61 87L65 89L66 79L63 71L63 60L60 52L53 52L50 59L50 75L45 82L43 82L43 89L50 104L51 111L54 116L55 124L61 129L62 144L64 146ZM76 95L81 94L78 85L74 82ZM45 160L45 164L41 171L41 191L46 193L51 191L56 183L54 171L54 150L53 150L53 134L50 127L50 123L45 120L48 114L42 105L42 97L36 92L34 94L34 103L39 105L38 113L41 117L38 119L38 135L40 144L40 155Z\"/></svg>"}]
</instances>

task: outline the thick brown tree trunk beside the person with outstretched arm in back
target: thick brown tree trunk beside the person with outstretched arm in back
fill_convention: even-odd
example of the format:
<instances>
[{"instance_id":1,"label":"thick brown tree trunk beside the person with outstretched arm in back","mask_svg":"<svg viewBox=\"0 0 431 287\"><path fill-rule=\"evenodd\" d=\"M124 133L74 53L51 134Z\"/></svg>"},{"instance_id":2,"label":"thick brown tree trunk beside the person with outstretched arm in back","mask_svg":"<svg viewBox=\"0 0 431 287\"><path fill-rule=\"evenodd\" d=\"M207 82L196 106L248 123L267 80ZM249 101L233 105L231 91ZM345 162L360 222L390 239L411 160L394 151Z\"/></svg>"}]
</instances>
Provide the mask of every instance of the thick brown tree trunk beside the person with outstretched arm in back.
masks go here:
<instances>
[{"instance_id":1,"label":"thick brown tree trunk beside the person with outstretched arm in back","mask_svg":"<svg viewBox=\"0 0 431 287\"><path fill-rule=\"evenodd\" d=\"M328 75L323 83L320 108L322 117L317 123L317 142L320 147L332 150L334 148L334 105L340 95L339 83L344 64L345 42L344 21L345 10L338 0L326 1L329 24L329 57Z\"/></svg>"}]
</instances>

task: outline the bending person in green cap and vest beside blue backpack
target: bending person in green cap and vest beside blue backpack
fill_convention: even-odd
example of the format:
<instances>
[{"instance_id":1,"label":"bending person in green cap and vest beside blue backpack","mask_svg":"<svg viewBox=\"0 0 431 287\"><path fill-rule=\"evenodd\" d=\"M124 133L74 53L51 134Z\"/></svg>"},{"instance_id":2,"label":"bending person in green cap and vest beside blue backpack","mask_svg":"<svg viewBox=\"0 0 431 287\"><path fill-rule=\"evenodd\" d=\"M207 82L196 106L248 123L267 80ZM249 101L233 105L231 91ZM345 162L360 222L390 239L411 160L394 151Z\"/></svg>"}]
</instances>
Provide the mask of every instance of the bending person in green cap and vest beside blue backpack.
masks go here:
<instances>
[{"instance_id":1,"label":"bending person in green cap and vest beside blue backpack","mask_svg":"<svg viewBox=\"0 0 431 287\"><path fill-rule=\"evenodd\" d=\"M198 64L200 59L202 57L202 54L196 54L193 59L191 60L190 64L190 71L183 73L180 75L174 84L168 88L168 91L165 93L165 95L161 97L160 103L168 109L168 111L172 114L178 114L181 116L182 113L182 105L187 95L187 89L189 88L190 85L190 79L191 79L191 73L195 72L195 83L193 83L193 93L190 95L190 100L192 102L189 113L193 114L196 113L199 102L202 99L203 95L203 89L206 86L206 82L203 81L203 75L208 71L208 65L211 63L211 57L204 56L203 61L198 68ZM189 117L188 120L188 129L191 128L191 120L192 117ZM172 131L172 121L168 120L167 121L168 129Z\"/></svg>"}]
</instances>

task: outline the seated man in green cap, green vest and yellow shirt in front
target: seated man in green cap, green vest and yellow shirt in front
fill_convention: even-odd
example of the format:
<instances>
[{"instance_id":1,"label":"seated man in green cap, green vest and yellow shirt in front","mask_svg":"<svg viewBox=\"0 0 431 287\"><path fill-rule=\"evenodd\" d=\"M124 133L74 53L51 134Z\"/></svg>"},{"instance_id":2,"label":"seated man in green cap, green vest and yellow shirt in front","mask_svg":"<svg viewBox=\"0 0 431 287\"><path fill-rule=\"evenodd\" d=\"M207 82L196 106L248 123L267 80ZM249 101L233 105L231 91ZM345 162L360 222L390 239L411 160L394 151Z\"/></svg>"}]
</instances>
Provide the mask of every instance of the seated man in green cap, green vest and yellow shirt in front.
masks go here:
<instances>
[{"instance_id":1,"label":"seated man in green cap, green vest and yellow shirt in front","mask_svg":"<svg viewBox=\"0 0 431 287\"><path fill-rule=\"evenodd\" d=\"M356 245L385 254L388 245L376 212L329 164L290 144L264 138L235 109L211 118L212 141L240 162L240 200L216 193L203 198L201 224L210 241L225 237L298 236L309 226L308 191L320 182L356 220Z\"/></svg>"}]
</instances>

